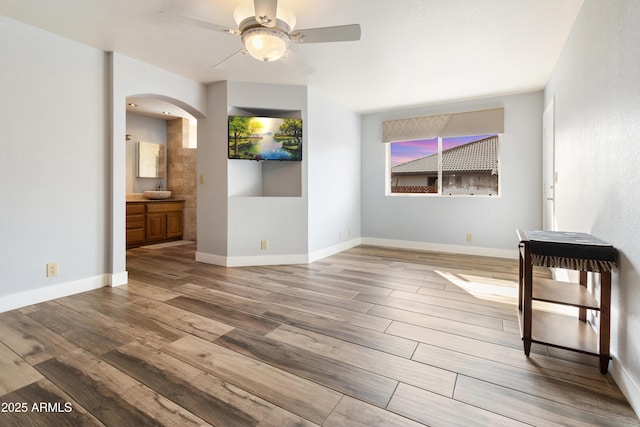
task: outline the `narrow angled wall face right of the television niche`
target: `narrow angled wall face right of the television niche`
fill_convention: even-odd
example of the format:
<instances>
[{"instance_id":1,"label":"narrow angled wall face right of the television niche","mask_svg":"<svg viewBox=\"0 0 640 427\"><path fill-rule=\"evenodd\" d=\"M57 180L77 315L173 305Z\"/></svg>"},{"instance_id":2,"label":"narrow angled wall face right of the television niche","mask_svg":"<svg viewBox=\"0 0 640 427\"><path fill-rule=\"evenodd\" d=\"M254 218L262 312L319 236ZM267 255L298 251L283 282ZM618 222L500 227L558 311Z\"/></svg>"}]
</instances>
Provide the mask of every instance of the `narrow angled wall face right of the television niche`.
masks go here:
<instances>
[{"instance_id":1,"label":"narrow angled wall face right of the television niche","mask_svg":"<svg viewBox=\"0 0 640 427\"><path fill-rule=\"evenodd\" d=\"M360 239L361 118L311 88L308 116L309 252L338 252Z\"/></svg>"}]
</instances>

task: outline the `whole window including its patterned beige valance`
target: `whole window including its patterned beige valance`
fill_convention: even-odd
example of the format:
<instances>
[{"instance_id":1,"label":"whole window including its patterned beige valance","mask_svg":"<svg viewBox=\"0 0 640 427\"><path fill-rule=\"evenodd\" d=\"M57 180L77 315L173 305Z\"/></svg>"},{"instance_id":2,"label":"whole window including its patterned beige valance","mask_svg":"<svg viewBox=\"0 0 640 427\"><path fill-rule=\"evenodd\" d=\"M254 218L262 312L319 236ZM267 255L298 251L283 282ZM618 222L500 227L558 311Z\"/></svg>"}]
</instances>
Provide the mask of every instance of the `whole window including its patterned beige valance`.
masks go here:
<instances>
[{"instance_id":1,"label":"whole window including its patterned beige valance","mask_svg":"<svg viewBox=\"0 0 640 427\"><path fill-rule=\"evenodd\" d=\"M496 196L504 108L382 122L388 194Z\"/></svg>"}]
</instances>

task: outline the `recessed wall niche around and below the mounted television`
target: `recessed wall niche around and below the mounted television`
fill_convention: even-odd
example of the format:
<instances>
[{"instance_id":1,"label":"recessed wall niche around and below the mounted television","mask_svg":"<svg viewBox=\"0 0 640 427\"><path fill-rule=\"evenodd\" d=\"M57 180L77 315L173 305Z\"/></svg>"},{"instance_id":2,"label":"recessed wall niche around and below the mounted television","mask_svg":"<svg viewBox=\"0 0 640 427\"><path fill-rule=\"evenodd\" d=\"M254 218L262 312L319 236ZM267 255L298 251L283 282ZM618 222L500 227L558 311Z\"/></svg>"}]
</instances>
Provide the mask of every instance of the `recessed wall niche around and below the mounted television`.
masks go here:
<instances>
[{"instance_id":1,"label":"recessed wall niche around and below the mounted television","mask_svg":"<svg viewBox=\"0 0 640 427\"><path fill-rule=\"evenodd\" d=\"M302 119L300 110L229 107L228 114ZM304 160L304 139L302 150ZM229 197L302 197L302 161L228 159L228 162Z\"/></svg>"}]
</instances>

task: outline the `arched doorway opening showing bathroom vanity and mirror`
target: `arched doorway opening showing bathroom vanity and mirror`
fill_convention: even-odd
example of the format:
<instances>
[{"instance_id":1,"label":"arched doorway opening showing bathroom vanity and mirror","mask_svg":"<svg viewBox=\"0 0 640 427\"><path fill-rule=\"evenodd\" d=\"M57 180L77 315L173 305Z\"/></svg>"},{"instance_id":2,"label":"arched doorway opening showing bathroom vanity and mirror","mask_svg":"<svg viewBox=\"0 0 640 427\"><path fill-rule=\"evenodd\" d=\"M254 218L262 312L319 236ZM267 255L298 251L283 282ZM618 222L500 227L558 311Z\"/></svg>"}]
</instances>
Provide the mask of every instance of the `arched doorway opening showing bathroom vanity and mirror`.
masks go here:
<instances>
[{"instance_id":1,"label":"arched doorway opening showing bathroom vanity and mirror","mask_svg":"<svg viewBox=\"0 0 640 427\"><path fill-rule=\"evenodd\" d=\"M197 240L197 119L164 98L127 97L127 249ZM158 146L158 174L142 176L141 144ZM146 193L145 193L146 192ZM168 197L155 200L158 197Z\"/></svg>"}]
</instances>

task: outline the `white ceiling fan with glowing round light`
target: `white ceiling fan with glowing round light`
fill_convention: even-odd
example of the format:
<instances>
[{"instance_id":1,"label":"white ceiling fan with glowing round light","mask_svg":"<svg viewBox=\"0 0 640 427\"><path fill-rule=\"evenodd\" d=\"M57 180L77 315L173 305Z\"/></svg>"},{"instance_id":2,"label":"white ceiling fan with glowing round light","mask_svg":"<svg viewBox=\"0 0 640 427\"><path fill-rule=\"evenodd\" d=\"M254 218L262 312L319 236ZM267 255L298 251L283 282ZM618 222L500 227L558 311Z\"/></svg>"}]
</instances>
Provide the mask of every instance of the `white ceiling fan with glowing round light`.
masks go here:
<instances>
[{"instance_id":1,"label":"white ceiling fan with glowing round light","mask_svg":"<svg viewBox=\"0 0 640 427\"><path fill-rule=\"evenodd\" d=\"M277 61L282 58L290 42L309 44L356 41L360 40L361 33L359 24L294 30L295 15L283 8L278 8L278 0L253 0L242 3L234 11L234 19L238 24L237 29L172 12L162 13L169 14L190 25L240 36L246 51L252 57L264 62Z\"/></svg>"}]
</instances>

